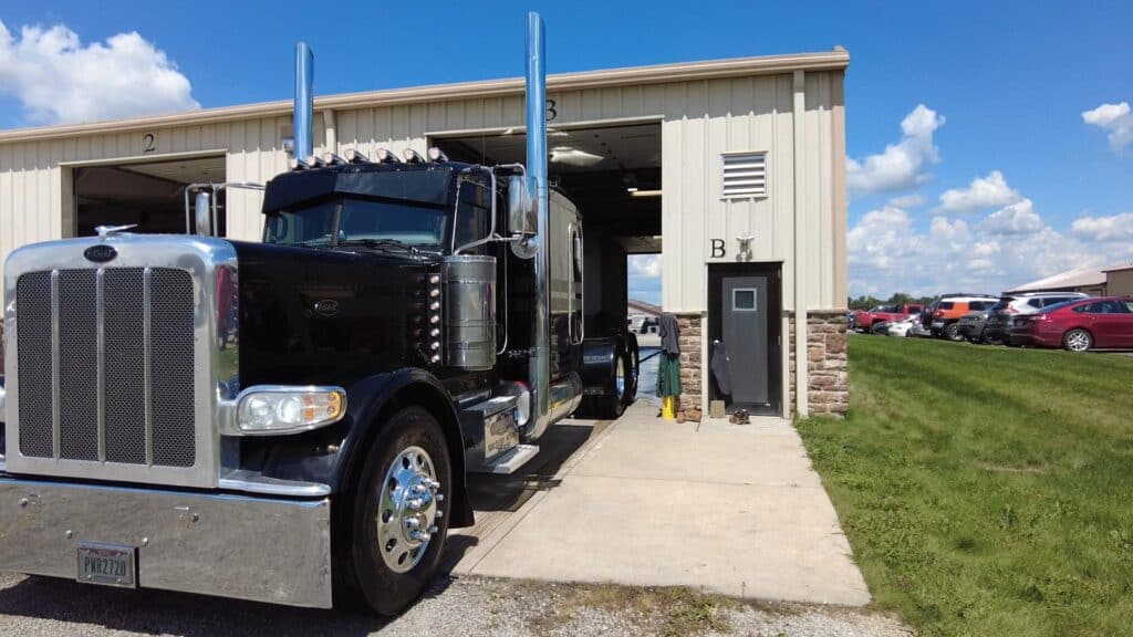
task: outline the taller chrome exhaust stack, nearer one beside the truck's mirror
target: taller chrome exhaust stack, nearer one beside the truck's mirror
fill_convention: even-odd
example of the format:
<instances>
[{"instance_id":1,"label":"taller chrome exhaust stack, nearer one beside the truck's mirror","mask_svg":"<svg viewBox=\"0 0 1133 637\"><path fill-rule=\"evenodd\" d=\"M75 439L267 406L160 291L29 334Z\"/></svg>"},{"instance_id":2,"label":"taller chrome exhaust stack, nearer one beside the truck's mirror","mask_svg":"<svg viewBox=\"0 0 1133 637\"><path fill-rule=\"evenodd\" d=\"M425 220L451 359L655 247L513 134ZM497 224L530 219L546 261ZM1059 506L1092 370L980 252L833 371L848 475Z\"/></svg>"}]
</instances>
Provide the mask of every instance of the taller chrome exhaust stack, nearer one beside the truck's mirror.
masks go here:
<instances>
[{"instance_id":1,"label":"taller chrome exhaust stack, nearer one beside the truck's mirror","mask_svg":"<svg viewBox=\"0 0 1133 637\"><path fill-rule=\"evenodd\" d=\"M528 381L531 391L531 417L525 432L536 439L551 425L551 206L547 192L547 85L544 25L539 14L527 14L527 187L535 206L536 233L528 239L535 253L535 294L531 321L531 353Z\"/></svg>"}]
</instances>

